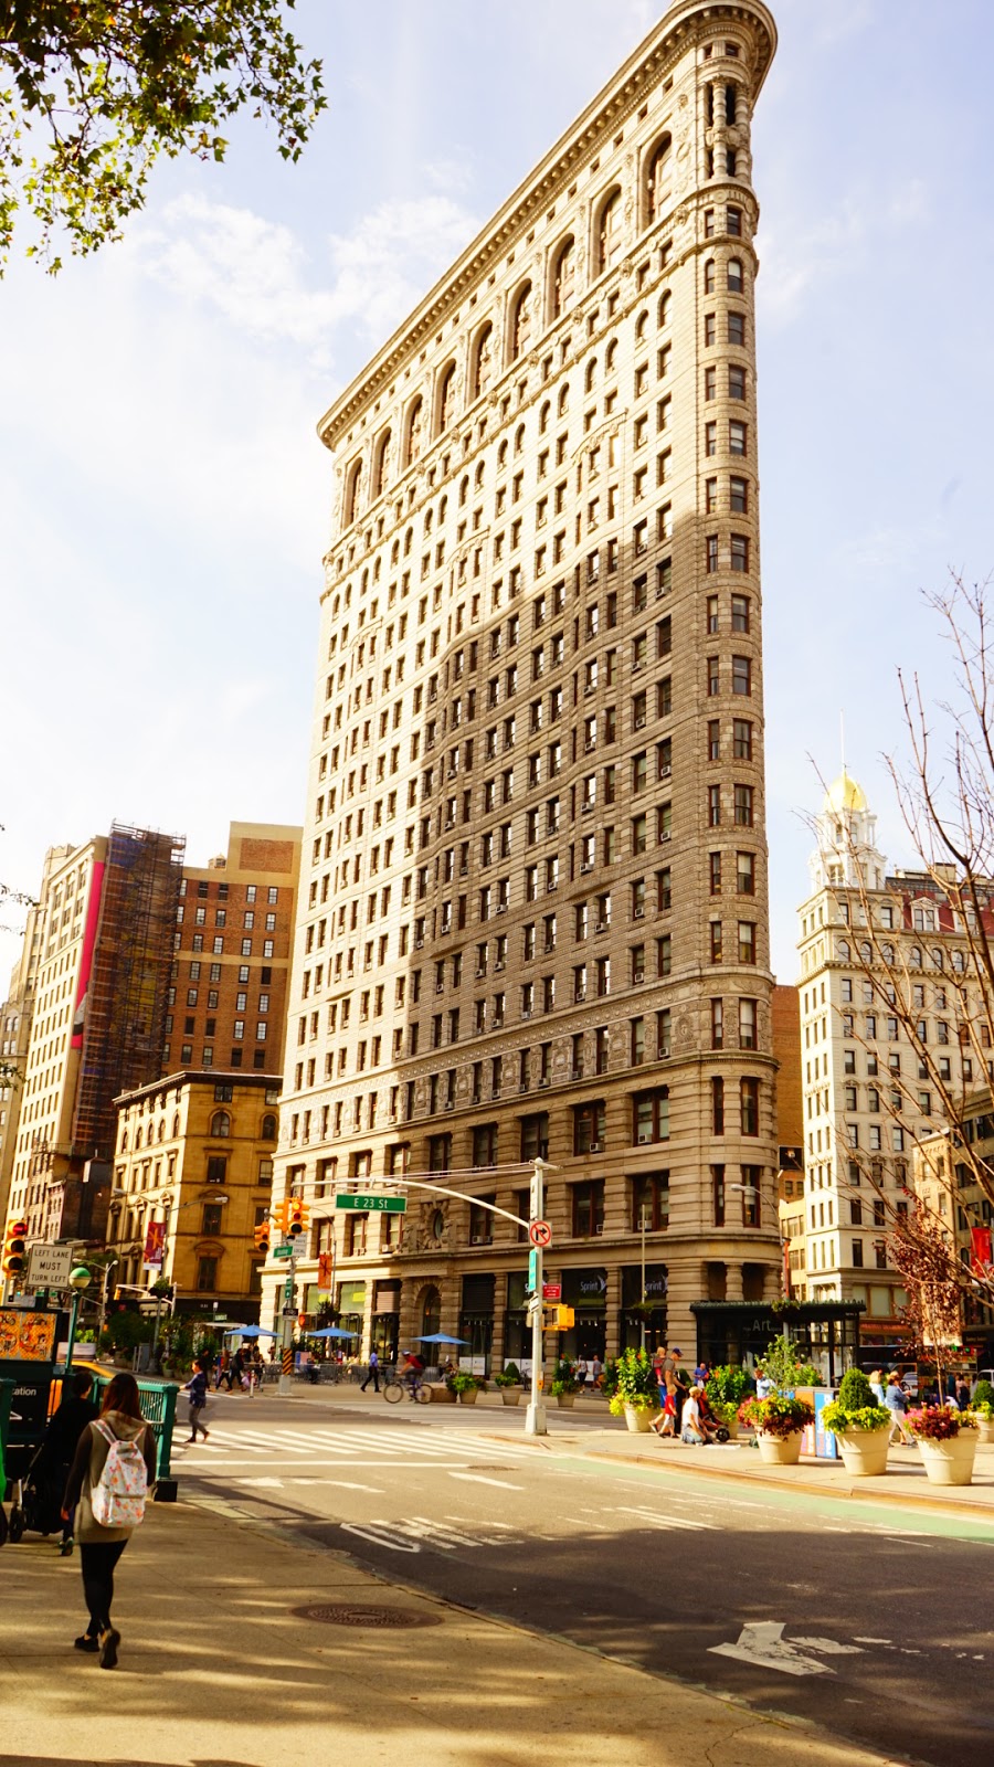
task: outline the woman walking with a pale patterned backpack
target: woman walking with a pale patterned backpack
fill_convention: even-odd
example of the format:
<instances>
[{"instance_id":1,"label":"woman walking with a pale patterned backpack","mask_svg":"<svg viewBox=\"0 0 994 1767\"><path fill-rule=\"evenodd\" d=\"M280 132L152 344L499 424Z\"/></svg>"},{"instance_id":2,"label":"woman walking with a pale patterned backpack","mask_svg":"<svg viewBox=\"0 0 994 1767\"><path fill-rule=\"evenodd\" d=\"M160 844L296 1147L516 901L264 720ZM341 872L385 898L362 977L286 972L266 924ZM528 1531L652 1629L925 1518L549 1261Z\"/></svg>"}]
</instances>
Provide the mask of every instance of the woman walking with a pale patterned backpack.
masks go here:
<instances>
[{"instance_id":1,"label":"woman walking with a pale patterned backpack","mask_svg":"<svg viewBox=\"0 0 994 1767\"><path fill-rule=\"evenodd\" d=\"M156 1483L156 1437L141 1417L134 1375L108 1382L101 1415L87 1424L69 1470L62 1520L76 1511L87 1631L76 1650L97 1652L101 1668L117 1668L120 1633L111 1624L113 1571L145 1514Z\"/></svg>"}]
</instances>

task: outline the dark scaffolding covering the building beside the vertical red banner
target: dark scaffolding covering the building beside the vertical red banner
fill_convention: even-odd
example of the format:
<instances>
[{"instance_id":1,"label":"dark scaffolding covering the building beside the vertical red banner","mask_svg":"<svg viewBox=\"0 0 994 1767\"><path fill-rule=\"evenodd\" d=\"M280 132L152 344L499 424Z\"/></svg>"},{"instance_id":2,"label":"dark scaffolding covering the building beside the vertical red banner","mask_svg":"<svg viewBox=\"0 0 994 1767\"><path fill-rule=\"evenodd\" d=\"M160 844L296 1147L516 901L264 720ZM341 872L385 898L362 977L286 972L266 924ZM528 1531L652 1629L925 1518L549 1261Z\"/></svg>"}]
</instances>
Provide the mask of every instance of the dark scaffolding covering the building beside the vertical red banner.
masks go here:
<instances>
[{"instance_id":1,"label":"dark scaffolding covering the building beside the vertical red banner","mask_svg":"<svg viewBox=\"0 0 994 1767\"><path fill-rule=\"evenodd\" d=\"M73 1154L110 1157L120 1092L157 1080L186 841L111 825L87 990Z\"/></svg>"}]
</instances>

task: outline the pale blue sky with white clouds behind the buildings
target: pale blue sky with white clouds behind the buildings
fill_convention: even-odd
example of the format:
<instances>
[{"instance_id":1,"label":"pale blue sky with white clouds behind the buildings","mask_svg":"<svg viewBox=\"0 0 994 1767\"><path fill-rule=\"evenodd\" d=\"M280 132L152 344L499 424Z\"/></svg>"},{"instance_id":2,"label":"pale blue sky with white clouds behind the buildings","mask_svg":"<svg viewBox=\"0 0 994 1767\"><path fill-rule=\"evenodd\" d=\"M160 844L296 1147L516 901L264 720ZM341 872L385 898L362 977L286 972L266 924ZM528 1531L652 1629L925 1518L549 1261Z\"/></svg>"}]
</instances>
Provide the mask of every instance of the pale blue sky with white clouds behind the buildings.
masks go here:
<instances>
[{"instance_id":1,"label":"pale blue sky with white clouds behind the buildings","mask_svg":"<svg viewBox=\"0 0 994 1767\"><path fill-rule=\"evenodd\" d=\"M845 760L893 864L897 668L994 569L994 7L778 0L753 122L773 967ZM331 456L315 424L663 7L299 0L329 108L161 164L120 246L0 283L0 880L111 820L301 822ZM955 27L955 28L953 28ZM5 928L18 910L0 903ZM18 940L0 933L0 977ZM0 981L2 991L2 981Z\"/></svg>"}]
</instances>

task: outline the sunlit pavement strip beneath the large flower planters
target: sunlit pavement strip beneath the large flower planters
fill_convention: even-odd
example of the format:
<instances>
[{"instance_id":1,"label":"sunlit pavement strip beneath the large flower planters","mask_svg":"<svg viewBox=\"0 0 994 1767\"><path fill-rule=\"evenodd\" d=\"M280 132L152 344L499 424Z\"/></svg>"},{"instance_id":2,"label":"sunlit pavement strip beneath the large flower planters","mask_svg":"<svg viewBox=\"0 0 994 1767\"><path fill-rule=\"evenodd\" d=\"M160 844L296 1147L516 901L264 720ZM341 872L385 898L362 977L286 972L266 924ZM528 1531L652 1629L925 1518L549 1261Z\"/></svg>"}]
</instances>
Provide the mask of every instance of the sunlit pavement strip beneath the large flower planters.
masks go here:
<instances>
[{"instance_id":1,"label":"sunlit pavement strip beneath the large flower planters","mask_svg":"<svg viewBox=\"0 0 994 1767\"><path fill-rule=\"evenodd\" d=\"M994 1447L976 1449L973 1484L943 1486L929 1484L916 1447L891 1447L888 1470L883 1477L854 1479L840 1460L814 1460L807 1454L801 1456L798 1467L768 1467L759 1452L746 1444L702 1449L672 1438L631 1435L626 1430L578 1430L573 1437L557 1431L548 1440L554 1440L557 1449L570 1442L573 1452L593 1460L617 1460L638 1467L656 1465L723 1479L748 1479L752 1484L817 1491L821 1497L856 1497L874 1502L900 1502L909 1509L969 1513L994 1527Z\"/></svg>"}]
</instances>

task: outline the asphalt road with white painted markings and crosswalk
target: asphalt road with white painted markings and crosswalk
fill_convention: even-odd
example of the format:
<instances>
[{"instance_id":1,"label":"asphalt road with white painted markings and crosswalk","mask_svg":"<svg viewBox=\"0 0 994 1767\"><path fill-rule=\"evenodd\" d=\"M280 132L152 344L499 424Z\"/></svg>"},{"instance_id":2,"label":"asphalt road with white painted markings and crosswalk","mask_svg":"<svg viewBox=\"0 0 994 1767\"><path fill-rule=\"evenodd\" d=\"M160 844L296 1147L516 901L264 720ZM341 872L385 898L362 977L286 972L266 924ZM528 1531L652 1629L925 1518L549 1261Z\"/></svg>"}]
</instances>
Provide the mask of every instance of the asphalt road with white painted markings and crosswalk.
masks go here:
<instances>
[{"instance_id":1,"label":"asphalt road with white painted markings and crosswalk","mask_svg":"<svg viewBox=\"0 0 994 1767\"><path fill-rule=\"evenodd\" d=\"M660 1468L589 1461L570 1440L582 1412L532 1444L522 1410L373 1394L212 1410L210 1440L175 1460L184 1497L883 1753L994 1760L990 1523L884 1502L853 1514L702 1477L679 1447ZM665 1695L647 1718L665 1725Z\"/></svg>"}]
</instances>

